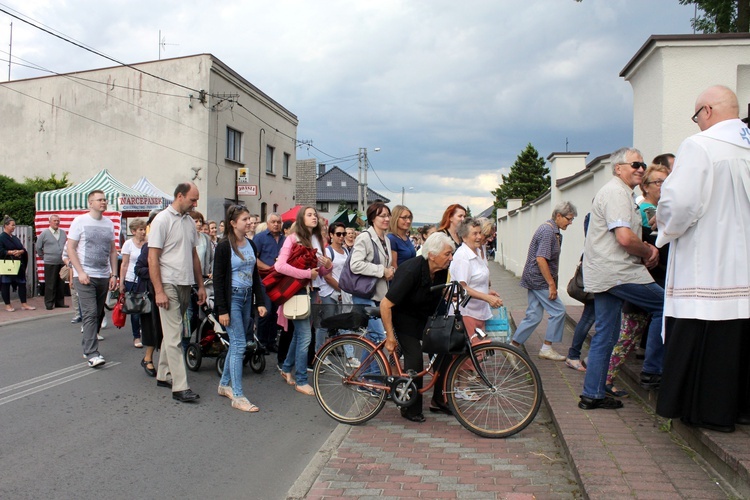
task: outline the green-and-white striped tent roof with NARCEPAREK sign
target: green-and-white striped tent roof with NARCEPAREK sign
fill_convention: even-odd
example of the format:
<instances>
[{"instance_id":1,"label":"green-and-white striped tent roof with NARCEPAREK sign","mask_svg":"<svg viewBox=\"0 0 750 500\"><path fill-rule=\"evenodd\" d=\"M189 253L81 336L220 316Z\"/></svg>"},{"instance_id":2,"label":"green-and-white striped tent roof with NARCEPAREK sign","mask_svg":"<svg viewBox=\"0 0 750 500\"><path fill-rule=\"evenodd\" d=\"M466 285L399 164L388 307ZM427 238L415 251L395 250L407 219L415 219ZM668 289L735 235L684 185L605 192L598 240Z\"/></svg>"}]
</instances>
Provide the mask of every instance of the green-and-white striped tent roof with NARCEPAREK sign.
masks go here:
<instances>
[{"instance_id":1,"label":"green-and-white striped tent roof with NARCEPAREK sign","mask_svg":"<svg viewBox=\"0 0 750 500\"><path fill-rule=\"evenodd\" d=\"M36 194L37 212L88 210L88 194L100 189L107 197L108 210L144 212L162 208L163 199L126 186L106 170L74 186Z\"/></svg>"}]
</instances>

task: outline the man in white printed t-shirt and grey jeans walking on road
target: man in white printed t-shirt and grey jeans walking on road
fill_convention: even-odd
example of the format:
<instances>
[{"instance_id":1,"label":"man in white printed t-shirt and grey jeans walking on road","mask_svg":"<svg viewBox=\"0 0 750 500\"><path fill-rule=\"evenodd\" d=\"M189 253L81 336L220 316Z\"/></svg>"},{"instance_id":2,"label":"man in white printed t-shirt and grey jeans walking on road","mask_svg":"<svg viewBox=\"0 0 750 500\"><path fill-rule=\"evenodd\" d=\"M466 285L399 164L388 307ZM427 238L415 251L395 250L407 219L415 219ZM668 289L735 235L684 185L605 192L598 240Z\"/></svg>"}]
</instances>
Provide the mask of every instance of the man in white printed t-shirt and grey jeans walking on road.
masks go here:
<instances>
[{"instance_id":1,"label":"man in white printed t-shirt and grey jeans walking on road","mask_svg":"<svg viewBox=\"0 0 750 500\"><path fill-rule=\"evenodd\" d=\"M94 190L88 196L89 211L73 219L68 234L68 257L83 319L83 355L91 368L105 363L99 353L97 331L107 291L117 287L115 226L104 217L107 197Z\"/></svg>"}]
</instances>

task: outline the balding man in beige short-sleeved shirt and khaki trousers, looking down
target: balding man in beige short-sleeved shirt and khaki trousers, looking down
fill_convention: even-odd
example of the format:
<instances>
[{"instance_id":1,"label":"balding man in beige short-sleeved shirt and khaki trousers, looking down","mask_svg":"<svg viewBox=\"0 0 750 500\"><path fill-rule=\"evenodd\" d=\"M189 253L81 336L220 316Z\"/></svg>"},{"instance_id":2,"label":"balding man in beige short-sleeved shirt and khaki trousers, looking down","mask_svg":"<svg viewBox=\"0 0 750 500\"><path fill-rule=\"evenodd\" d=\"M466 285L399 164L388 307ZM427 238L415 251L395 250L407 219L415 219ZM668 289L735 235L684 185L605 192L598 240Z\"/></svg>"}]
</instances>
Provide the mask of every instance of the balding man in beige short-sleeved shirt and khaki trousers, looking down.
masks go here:
<instances>
[{"instance_id":1,"label":"balding man in beige short-sleeved shirt and khaki trousers, looking down","mask_svg":"<svg viewBox=\"0 0 750 500\"><path fill-rule=\"evenodd\" d=\"M190 303L191 286L198 286L198 305L206 301L201 262L196 246L198 231L189 212L198 205L198 187L179 184L174 201L151 222L148 235L148 269L161 316L163 339L156 385L172 389L172 399L181 403L200 398L187 383L182 356L182 318ZM167 374L172 374L172 381Z\"/></svg>"}]
</instances>

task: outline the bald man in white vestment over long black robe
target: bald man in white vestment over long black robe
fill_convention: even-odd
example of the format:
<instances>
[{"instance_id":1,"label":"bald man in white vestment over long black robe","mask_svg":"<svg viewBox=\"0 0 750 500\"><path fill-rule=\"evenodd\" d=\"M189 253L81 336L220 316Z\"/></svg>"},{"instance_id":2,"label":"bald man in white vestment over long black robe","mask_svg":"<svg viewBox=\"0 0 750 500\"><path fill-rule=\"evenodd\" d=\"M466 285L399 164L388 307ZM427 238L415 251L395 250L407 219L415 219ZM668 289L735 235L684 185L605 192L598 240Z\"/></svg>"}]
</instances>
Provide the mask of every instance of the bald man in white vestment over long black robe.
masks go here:
<instances>
[{"instance_id":1,"label":"bald man in white vestment over long black robe","mask_svg":"<svg viewBox=\"0 0 750 500\"><path fill-rule=\"evenodd\" d=\"M680 146L656 210L656 244L670 244L656 411L732 432L750 425L750 130L726 87L694 109L701 132Z\"/></svg>"}]
</instances>

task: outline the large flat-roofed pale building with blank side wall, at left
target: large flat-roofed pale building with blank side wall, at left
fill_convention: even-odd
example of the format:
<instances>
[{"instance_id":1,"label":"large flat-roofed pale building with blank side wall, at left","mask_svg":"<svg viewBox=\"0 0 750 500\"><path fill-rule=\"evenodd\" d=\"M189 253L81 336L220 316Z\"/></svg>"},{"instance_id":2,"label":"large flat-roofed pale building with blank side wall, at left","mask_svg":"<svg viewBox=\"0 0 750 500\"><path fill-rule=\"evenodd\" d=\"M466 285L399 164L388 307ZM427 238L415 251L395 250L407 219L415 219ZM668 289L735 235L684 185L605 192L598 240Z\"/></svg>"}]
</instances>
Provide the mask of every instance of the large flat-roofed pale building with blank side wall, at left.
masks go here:
<instances>
[{"instance_id":1,"label":"large flat-roofed pale building with blank side wall, at left","mask_svg":"<svg viewBox=\"0 0 750 500\"><path fill-rule=\"evenodd\" d=\"M297 117L211 54L116 66L2 85L0 169L69 173L106 168L172 193L192 180L198 205L219 220L247 169L251 212L294 206Z\"/></svg>"}]
</instances>

